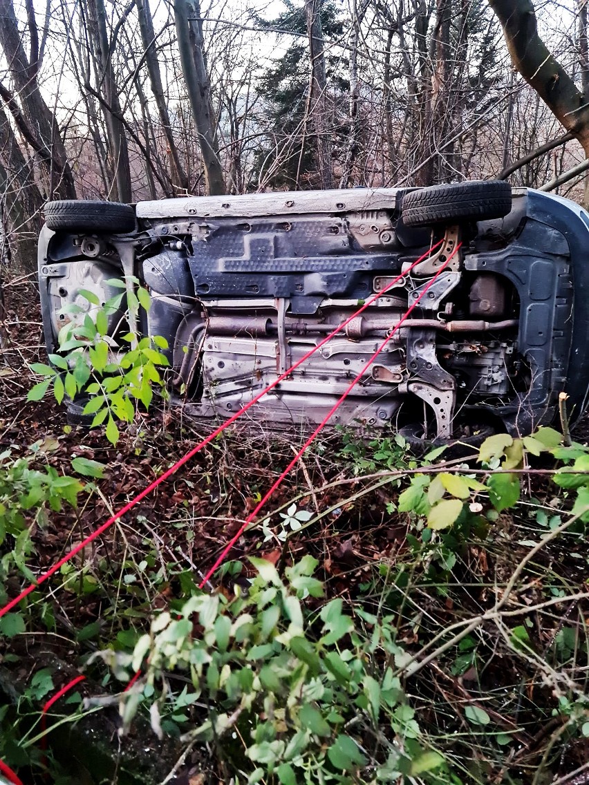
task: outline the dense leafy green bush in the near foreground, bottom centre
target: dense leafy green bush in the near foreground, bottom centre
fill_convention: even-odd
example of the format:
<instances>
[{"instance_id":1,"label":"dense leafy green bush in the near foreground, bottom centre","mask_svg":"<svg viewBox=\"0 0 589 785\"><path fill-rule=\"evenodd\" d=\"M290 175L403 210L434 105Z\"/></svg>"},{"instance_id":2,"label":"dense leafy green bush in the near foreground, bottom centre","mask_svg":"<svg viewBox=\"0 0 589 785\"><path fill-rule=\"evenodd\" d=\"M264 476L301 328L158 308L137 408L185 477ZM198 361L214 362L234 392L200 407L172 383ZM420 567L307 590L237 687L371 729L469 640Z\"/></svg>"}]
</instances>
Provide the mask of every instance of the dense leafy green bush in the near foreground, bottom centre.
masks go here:
<instances>
[{"instance_id":1,"label":"dense leafy green bush in the near foreground, bottom centre","mask_svg":"<svg viewBox=\"0 0 589 785\"><path fill-rule=\"evenodd\" d=\"M156 616L132 655L101 652L119 677L145 668L123 725L149 703L159 736L178 725L186 740L213 744L235 783L451 782L395 674L407 655L393 617L324 603L311 556L286 568L286 582L251 561L247 593L198 593ZM174 674L190 685L175 696ZM197 704L207 712L187 730Z\"/></svg>"}]
</instances>

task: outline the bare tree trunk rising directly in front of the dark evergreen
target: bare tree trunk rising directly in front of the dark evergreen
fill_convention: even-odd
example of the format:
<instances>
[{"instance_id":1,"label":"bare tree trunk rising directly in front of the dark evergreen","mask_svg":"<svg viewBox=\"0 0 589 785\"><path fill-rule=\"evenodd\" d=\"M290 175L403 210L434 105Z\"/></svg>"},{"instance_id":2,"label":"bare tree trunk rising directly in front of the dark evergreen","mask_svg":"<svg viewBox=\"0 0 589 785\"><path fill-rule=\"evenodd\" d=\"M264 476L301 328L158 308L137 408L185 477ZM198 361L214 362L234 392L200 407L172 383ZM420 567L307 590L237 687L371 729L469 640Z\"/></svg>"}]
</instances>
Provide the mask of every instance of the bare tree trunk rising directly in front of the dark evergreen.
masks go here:
<instances>
[{"instance_id":1,"label":"bare tree trunk rising directly in front of the dark evergreen","mask_svg":"<svg viewBox=\"0 0 589 785\"><path fill-rule=\"evenodd\" d=\"M320 16L321 0L305 0L309 57L311 59L310 117L316 136L317 166L321 188L333 188L331 162L331 131L327 117L327 75L323 30Z\"/></svg>"}]
</instances>

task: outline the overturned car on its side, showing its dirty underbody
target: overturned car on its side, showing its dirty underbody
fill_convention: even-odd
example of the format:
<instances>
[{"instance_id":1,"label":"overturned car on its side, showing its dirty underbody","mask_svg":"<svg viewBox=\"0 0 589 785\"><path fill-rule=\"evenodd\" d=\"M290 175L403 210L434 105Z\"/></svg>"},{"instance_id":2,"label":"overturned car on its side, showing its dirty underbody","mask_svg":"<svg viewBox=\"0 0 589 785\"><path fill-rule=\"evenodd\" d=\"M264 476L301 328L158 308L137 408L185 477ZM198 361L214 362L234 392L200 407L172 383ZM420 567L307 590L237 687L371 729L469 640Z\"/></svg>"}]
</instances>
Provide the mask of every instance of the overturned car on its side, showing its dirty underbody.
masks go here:
<instances>
[{"instance_id":1,"label":"overturned car on its side, showing its dirty underbody","mask_svg":"<svg viewBox=\"0 0 589 785\"><path fill-rule=\"evenodd\" d=\"M138 280L152 307L137 325L113 316L113 344L129 327L166 338L172 399L196 418L226 418L286 374L247 416L313 425L366 367L334 424L525 434L554 420L560 392L573 420L587 403L588 246L580 206L502 181L52 202L46 344L59 350L64 306L90 306L81 290L104 302L112 279Z\"/></svg>"}]
</instances>

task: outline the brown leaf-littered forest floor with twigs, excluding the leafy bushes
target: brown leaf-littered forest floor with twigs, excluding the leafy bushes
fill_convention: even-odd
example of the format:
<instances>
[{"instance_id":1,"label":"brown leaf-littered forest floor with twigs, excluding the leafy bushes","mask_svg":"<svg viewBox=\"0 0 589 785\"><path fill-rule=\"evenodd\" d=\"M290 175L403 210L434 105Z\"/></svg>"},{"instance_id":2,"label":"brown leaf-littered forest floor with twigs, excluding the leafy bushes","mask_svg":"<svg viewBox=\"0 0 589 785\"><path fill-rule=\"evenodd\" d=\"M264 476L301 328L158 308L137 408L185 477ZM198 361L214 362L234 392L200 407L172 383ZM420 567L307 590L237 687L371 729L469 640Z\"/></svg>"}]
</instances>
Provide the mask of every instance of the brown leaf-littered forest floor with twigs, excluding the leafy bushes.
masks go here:
<instances>
[{"instance_id":1,"label":"brown leaf-littered forest floor with twigs, excluding the leafy bushes","mask_svg":"<svg viewBox=\"0 0 589 785\"><path fill-rule=\"evenodd\" d=\"M27 546L20 557L39 575L207 432L182 418L181 411L155 407L137 415L112 447L101 429L68 426L64 408L52 397L27 402L35 383L29 364L45 361L35 286L15 279L5 286L5 300L0 460L6 466L29 456L31 466L53 466L60 475L72 473L72 458L104 466L104 476L83 480L77 509L64 506L35 519L34 550ZM587 440L587 419L574 436ZM302 435L233 429L31 595L23 611L26 629L5 638L5 649L0 648L0 759L4 755L19 769L25 785L47 781L48 765L49 781L60 783L231 780L218 751L222 744L191 745L182 736L206 714L207 707L197 703L184 711L176 703L166 714L163 741L149 727L147 711L120 736L118 703L111 701L98 712L95 704L81 720L65 721L50 734L48 753L36 739L41 736L39 707L80 672L90 655L108 646L132 650L155 612L176 607L194 593L299 443ZM463 459L461 469L467 472L474 465ZM554 468L554 460L534 464L535 469L546 466ZM444 651L430 661L418 660L415 674L404 675L419 738L446 760L443 771L423 774L424 779L407 774L405 781L589 782L584 778L589 761L584 527L562 532L526 562L543 533L565 517L570 500L546 476L532 472L522 480L517 506L499 516L489 514L483 528L440 539L434 547L422 542L419 517L394 509L407 485L401 476L412 476L417 468L419 463L391 436L371 440L333 431L322 436L273 495L261 525L247 529L207 588L225 597L232 597L236 587L247 590L255 575L250 556L269 560L284 575L289 565L311 554L327 599L341 598L368 625L370 615L388 612L396 641L416 657L450 626L491 608L525 564L517 600L506 615L454 642L449 636ZM0 556L18 547L18 538L8 535ZM19 571L9 571L8 596L25 582ZM309 602L316 612L319 601L310 597ZM88 678L69 703L57 704L52 724L79 711L81 699L120 689L102 660L85 672ZM166 677L170 694L177 695L187 681L177 674ZM8 707L4 711L2 704ZM380 731L389 735L383 727L381 721ZM379 758L378 751L374 755ZM400 781L391 777L388 781ZM376 780L357 775L353 781ZM379 775L379 781L386 778Z\"/></svg>"}]
</instances>

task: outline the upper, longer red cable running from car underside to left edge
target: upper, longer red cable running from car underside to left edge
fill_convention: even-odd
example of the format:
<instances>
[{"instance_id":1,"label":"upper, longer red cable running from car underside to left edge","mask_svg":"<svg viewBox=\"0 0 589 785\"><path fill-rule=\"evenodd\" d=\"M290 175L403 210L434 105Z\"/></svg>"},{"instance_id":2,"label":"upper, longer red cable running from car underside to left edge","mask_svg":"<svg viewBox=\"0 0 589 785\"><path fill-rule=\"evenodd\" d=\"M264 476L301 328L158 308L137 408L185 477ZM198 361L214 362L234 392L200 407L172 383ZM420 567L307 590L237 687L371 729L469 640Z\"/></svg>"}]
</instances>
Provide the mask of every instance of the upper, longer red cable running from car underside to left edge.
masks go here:
<instances>
[{"instance_id":1,"label":"upper, longer red cable running from car underside to left edge","mask_svg":"<svg viewBox=\"0 0 589 785\"><path fill-rule=\"evenodd\" d=\"M64 564L66 564L70 559L75 557L75 555L79 553L81 550L83 550L87 545L90 545L90 542L93 542L93 540L97 539L97 537L100 537L103 531L106 531L109 526L112 526L112 524L114 524L116 520L119 520L119 518L123 517L123 515L128 513L130 509L133 509L133 507L138 502L141 502L141 500L144 499L146 496L148 496L152 491L154 491L159 484L163 483L164 480L167 480L168 477L173 475L177 471L177 469L180 469L181 466L184 466L185 463L187 463L191 458L193 458L197 452L202 450L203 447L206 447L207 444L209 444L212 440L214 440L219 435L219 433L222 433L222 431L224 431L225 428L227 428L229 425L232 425L232 423L235 422L237 418L239 418L248 409L254 406L254 403L258 403L258 400L260 400L263 396L265 396L267 392L270 392L270 390L274 389L276 385L284 381L284 379L287 378L287 376L291 374L292 371L298 368L298 366L301 363L305 362L305 360L308 360L309 357L312 354L314 354L314 352L317 351L317 349L320 349L323 345L327 343L327 341L329 341L336 334L338 334L338 332L342 330L343 327L346 327L346 325L349 324L352 321L352 319L355 319L360 313L362 313L365 309L367 309L370 305L372 305L372 303L378 300L379 297L382 297L382 295L385 294L386 291L388 291L391 287L395 286L395 284L399 283L399 281L404 276L406 276L408 272L412 271L415 265L419 265L419 263L423 261L426 257L428 257L430 253L437 248L437 246L441 245L442 242L443 240L440 240L439 243L436 243L434 246L432 246L430 250L426 252L426 254L423 254L423 256L419 257L417 261L414 261L412 265L410 265L404 272L401 273L401 275L397 276L397 278L393 279L390 283L388 283L386 287L384 287L381 291L373 295L369 300L367 300L364 303L364 305L361 306L361 308L359 308L355 313L353 313L352 316L349 316L345 322L342 322L338 327L335 328L335 330L333 330L329 335L323 338L316 346L313 346L313 349L309 349L309 352L306 352L306 354L303 355L300 360L297 360L297 362L294 363L294 365L292 365L288 369L288 371L284 371L284 374L280 374L280 376L276 378L274 382L268 385L268 387L262 390L262 392L258 392L258 395L252 398L252 400L249 403L246 403L246 405L242 409L240 409L240 411L236 411L235 414L232 414L232 416L228 420L226 420L222 425L219 425L217 429L215 429L212 433L209 434L209 436L207 436L205 439L199 442L199 444L197 444L196 447L193 447L191 451L186 453L186 455L183 458L180 458L179 461L174 463L174 466L171 466L170 469L167 469L163 474L160 474L159 477L156 480L154 480L152 483L150 483L148 487L145 488L144 491L141 491L141 493L137 494L137 496L132 498L130 502L127 502L125 506L119 509L118 513L115 513L110 518L108 518L108 520L105 520L104 524L99 526L95 531L93 531L91 535L86 537L86 539L83 539L82 542L79 542L79 544L75 546L75 548L72 548L69 553L66 553L64 557L62 557L59 561L53 564L53 567L50 567L49 570L42 573L42 575L39 575L35 583L31 583L29 586L27 586L26 589L21 591L20 594L14 597L13 600L5 604L3 608L0 608L0 619L2 618L3 615L8 613L10 610L12 610L12 608L14 608L15 605L19 604L21 600L24 600L24 597L27 597L28 594L30 594L32 591L35 591L35 589L40 583L46 581L48 578L51 577L51 575L55 575L55 573L61 567L63 567ZM414 303L413 307L415 307L415 305L416 302Z\"/></svg>"}]
</instances>

